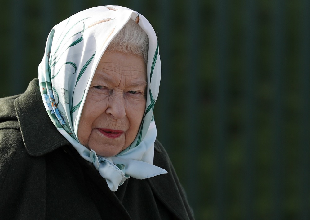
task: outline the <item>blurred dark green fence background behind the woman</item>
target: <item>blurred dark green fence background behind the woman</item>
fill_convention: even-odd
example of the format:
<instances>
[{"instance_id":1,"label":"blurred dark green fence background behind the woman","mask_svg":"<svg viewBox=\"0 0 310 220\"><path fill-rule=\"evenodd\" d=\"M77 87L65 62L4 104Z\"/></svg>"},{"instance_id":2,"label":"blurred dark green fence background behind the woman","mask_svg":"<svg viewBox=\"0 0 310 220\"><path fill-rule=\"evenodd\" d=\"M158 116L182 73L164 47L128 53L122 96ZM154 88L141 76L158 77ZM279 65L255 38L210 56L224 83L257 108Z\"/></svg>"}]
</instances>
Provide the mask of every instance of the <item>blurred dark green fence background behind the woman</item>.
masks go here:
<instances>
[{"instance_id":1,"label":"blurred dark green fence background behind the woman","mask_svg":"<svg viewBox=\"0 0 310 220\"><path fill-rule=\"evenodd\" d=\"M129 7L158 35L157 137L196 219L310 219L309 2L3 1L0 97L37 77L55 24Z\"/></svg>"}]
</instances>

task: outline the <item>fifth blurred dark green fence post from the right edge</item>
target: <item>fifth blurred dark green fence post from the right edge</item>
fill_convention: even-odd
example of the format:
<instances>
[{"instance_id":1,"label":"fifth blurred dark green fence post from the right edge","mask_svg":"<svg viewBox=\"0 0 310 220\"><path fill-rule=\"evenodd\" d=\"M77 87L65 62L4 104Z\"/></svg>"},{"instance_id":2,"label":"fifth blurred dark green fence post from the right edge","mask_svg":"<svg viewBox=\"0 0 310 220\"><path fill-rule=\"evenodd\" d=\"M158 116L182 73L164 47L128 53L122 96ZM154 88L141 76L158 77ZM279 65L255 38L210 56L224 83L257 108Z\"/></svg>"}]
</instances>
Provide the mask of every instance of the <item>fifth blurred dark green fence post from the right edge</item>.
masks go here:
<instances>
[{"instance_id":1,"label":"fifth blurred dark green fence post from the right edge","mask_svg":"<svg viewBox=\"0 0 310 220\"><path fill-rule=\"evenodd\" d=\"M198 0L188 1L189 11L184 14L187 16L187 50L186 54L188 62L187 72L185 77L187 79L187 92L186 92L186 127L189 128L186 141L187 158L191 161L191 165L187 166L187 186L189 188L188 200L192 205L194 212L197 210L198 205L198 178L197 178L197 157L199 157L199 135L197 134L198 128L198 106L199 106L199 7Z\"/></svg>"}]
</instances>

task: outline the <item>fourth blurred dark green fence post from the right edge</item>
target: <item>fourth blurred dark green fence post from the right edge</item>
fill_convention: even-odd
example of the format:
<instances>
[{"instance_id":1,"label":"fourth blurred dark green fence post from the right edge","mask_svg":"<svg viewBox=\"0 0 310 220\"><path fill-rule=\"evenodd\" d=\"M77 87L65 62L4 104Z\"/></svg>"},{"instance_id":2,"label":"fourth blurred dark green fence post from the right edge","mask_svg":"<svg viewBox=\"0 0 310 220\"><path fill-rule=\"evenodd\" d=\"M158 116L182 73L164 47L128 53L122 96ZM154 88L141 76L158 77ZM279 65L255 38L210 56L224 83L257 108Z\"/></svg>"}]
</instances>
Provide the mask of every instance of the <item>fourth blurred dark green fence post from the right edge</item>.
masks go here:
<instances>
[{"instance_id":1,"label":"fourth blurred dark green fence post from the right edge","mask_svg":"<svg viewBox=\"0 0 310 220\"><path fill-rule=\"evenodd\" d=\"M227 148L227 34L228 34L228 1L217 1L217 22L216 22L216 144L215 144L215 193L217 219L227 219L226 216L226 148Z\"/></svg>"}]
</instances>

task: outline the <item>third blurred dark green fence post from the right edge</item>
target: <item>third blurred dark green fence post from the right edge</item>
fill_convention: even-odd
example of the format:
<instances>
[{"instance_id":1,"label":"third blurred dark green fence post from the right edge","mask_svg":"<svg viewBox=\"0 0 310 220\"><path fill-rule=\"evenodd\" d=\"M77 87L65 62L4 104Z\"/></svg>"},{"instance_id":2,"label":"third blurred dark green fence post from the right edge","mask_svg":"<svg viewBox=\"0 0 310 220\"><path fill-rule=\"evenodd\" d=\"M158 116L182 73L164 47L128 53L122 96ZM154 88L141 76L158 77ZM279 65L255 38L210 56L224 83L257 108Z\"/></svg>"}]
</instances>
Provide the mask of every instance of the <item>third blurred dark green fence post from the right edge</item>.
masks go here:
<instances>
[{"instance_id":1,"label":"third blurred dark green fence post from the right edge","mask_svg":"<svg viewBox=\"0 0 310 220\"><path fill-rule=\"evenodd\" d=\"M257 13L256 1L247 0L245 8L245 134L246 134L246 158L245 158L245 217L251 219L254 216L254 183L255 183L255 105L256 97L256 52L257 52Z\"/></svg>"}]
</instances>

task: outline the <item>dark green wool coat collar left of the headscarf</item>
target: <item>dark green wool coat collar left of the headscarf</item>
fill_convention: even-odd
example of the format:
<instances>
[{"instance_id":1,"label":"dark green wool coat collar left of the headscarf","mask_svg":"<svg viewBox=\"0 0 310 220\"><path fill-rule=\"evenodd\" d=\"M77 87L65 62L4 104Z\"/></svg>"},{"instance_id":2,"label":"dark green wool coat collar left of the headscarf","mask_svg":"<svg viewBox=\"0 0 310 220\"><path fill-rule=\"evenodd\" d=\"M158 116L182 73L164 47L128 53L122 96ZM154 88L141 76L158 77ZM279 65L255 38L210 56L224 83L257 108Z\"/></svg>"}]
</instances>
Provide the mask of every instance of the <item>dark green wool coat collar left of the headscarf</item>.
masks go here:
<instances>
[{"instance_id":1,"label":"dark green wool coat collar left of the headscarf","mask_svg":"<svg viewBox=\"0 0 310 220\"><path fill-rule=\"evenodd\" d=\"M24 145L29 155L42 156L69 144L47 114L38 78L29 83L25 93L16 98L14 104Z\"/></svg>"}]
</instances>

